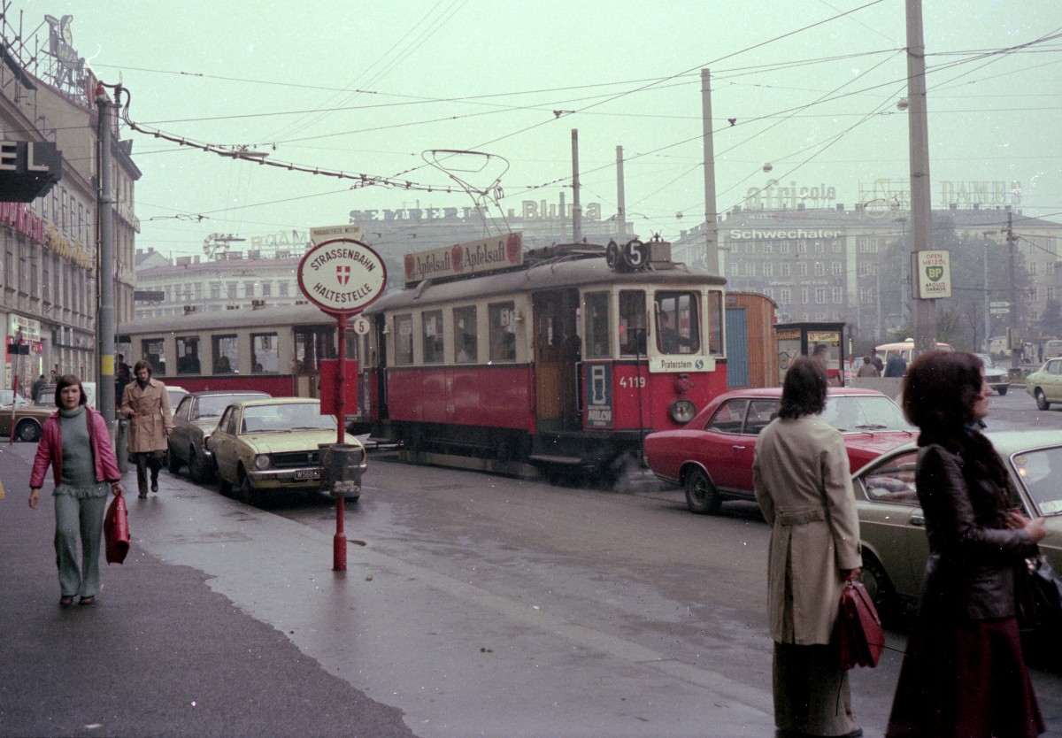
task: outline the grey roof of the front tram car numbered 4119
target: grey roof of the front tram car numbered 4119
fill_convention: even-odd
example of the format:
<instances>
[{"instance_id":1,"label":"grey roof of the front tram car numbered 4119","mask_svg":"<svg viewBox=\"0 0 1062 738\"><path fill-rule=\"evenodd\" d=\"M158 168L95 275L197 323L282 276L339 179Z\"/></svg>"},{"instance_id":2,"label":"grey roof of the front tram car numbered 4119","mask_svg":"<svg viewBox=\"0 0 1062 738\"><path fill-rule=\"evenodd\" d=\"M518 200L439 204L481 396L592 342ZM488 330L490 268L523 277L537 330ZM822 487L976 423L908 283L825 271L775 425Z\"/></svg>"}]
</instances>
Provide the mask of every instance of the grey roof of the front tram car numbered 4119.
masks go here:
<instances>
[{"instance_id":1,"label":"grey roof of the front tram car numbered 4119","mask_svg":"<svg viewBox=\"0 0 1062 738\"><path fill-rule=\"evenodd\" d=\"M683 264L658 270L619 272L603 256L542 261L517 271L469 275L463 279L434 282L430 279L397 292L389 292L370 305L366 313L416 305L475 299L499 294L550 290L589 285L668 286L690 282L722 287L726 279Z\"/></svg>"}]
</instances>

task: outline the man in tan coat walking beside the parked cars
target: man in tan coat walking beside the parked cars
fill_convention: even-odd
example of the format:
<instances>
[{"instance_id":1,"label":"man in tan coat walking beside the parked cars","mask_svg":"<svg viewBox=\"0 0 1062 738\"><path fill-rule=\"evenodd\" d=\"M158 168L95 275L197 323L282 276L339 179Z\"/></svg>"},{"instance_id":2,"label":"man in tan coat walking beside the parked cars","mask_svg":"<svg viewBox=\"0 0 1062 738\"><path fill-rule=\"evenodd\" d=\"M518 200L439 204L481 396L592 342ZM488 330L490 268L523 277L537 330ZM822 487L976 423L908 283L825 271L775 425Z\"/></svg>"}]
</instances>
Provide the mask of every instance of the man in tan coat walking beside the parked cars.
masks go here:
<instances>
[{"instance_id":1,"label":"man in tan coat walking beside the parked cars","mask_svg":"<svg viewBox=\"0 0 1062 738\"><path fill-rule=\"evenodd\" d=\"M158 470L167 439L173 430L173 413L166 385L151 376L151 364L142 359L133 365L134 380L122 393L122 414L130 418L129 449L136 462L136 484L140 499L148 497L148 469L151 491L158 492Z\"/></svg>"}]
</instances>

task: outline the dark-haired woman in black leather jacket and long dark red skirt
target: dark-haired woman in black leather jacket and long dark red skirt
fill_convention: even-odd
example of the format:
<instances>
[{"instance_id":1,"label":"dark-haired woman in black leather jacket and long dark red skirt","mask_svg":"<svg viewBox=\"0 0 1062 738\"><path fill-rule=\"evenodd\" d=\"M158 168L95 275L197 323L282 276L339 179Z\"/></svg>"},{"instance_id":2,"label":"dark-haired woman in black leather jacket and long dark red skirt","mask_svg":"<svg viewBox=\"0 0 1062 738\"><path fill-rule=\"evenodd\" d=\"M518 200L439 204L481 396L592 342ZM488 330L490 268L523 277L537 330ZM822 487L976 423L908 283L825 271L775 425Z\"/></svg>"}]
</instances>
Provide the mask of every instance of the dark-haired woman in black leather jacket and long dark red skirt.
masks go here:
<instances>
[{"instance_id":1,"label":"dark-haired woman in black leather jacket and long dark red skirt","mask_svg":"<svg viewBox=\"0 0 1062 738\"><path fill-rule=\"evenodd\" d=\"M1004 462L981 433L990 394L980 360L965 351L923 354L904 380L904 414L922 431L915 482L929 559L888 738L1045 731L1022 657L1014 574L1047 531L1014 509Z\"/></svg>"}]
</instances>

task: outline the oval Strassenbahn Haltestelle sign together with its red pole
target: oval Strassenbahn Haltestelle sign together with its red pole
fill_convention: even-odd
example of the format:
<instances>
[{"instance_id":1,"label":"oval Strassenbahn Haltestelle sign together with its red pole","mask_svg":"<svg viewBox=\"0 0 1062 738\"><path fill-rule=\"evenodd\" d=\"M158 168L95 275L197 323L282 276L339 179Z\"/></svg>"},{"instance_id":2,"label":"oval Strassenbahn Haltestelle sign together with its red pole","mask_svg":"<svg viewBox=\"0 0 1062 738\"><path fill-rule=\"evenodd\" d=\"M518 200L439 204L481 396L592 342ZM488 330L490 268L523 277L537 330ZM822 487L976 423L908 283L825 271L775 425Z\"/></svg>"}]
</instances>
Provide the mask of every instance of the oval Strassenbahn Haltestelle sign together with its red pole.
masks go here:
<instances>
[{"instance_id":1,"label":"oval Strassenbahn Haltestelle sign together with its red pole","mask_svg":"<svg viewBox=\"0 0 1062 738\"><path fill-rule=\"evenodd\" d=\"M388 270L379 254L361 241L336 238L323 241L298 262L298 287L307 299L339 322L339 367L336 372L337 443L346 441L343 368L346 366L346 322L383 294ZM343 497L336 497L336 536L332 569L346 571Z\"/></svg>"}]
</instances>

